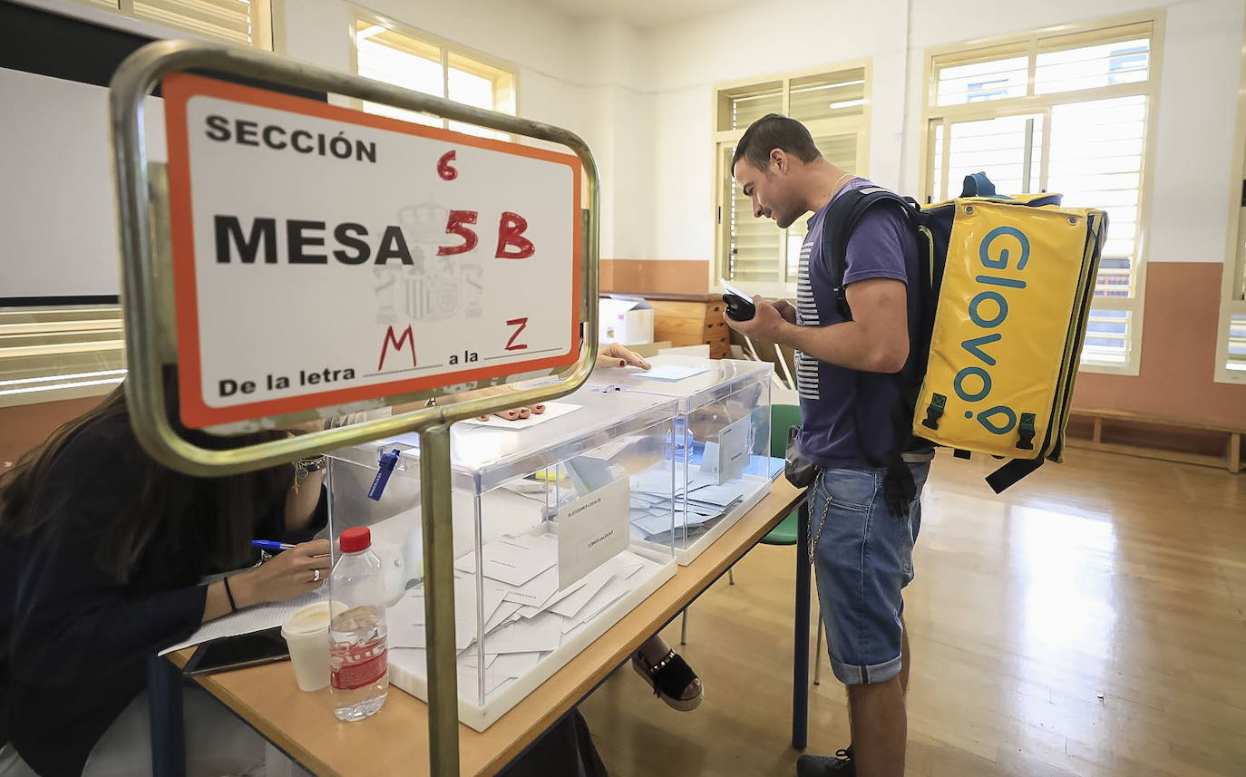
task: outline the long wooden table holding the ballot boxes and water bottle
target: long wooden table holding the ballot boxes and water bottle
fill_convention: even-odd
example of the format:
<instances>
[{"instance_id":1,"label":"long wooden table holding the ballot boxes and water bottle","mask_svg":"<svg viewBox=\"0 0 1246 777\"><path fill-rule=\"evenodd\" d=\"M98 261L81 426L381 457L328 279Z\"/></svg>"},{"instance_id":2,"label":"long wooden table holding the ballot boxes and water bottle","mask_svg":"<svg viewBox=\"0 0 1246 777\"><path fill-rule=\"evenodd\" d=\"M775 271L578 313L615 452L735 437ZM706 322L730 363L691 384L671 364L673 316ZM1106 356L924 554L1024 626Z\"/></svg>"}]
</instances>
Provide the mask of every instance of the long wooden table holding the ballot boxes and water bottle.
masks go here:
<instances>
[{"instance_id":1,"label":"long wooden table holding the ballot boxes and water bottle","mask_svg":"<svg viewBox=\"0 0 1246 777\"><path fill-rule=\"evenodd\" d=\"M804 498L802 489L794 488L780 477L756 507L690 565L680 567L674 578L487 731L478 732L460 723L461 775L475 777L501 771L592 694L614 669L629 660L640 643L670 623L797 506L801 508L802 542L795 554L797 590L792 745L804 747L809 700L809 564L805 548L807 532L804 528L807 525L807 509L804 507ZM169 659L181 667L192 652L193 649L181 650L169 654ZM168 664L164 666L168 667ZM152 702L153 723L159 723L161 727L168 727L171 707L159 702L159 686L163 685L166 691L177 690L176 677L177 674L169 672L168 677L157 680L157 687L150 690L151 697L156 700ZM320 777L429 775L427 706L400 689L391 686L385 706L368 721L343 723L333 717L328 689L314 694L299 691L289 662L204 675L194 680L274 746ZM172 715L179 717L176 716L176 710ZM153 740L158 738L153 728ZM181 755L179 750L178 743L155 743L153 751L157 752L153 757L157 761L166 760L166 768L157 766L157 773L178 772L178 766L171 762ZM184 771L184 763L182 768Z\"/></svg>"}]
</instances>

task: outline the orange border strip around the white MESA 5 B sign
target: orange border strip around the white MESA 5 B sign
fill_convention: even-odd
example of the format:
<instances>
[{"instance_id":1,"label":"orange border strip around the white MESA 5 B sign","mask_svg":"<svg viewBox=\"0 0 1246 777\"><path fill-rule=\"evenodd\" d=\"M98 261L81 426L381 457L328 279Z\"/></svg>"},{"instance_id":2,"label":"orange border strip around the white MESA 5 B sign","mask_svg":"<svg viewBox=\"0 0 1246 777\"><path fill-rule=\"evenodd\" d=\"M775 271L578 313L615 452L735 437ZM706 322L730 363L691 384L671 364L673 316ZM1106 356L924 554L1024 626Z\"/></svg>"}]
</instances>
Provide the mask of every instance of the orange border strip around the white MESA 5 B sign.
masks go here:
<instances>
[{"instance_id":1,"label":"orange border strip around the white MESA 5 B sign","mask_svg":"<svg viewBox=\"0 0 1246 777\"><path fill-rule=\"evenodd\" d=\"M452 384L502 377L516 372L562 367L572 365L578 360L581 345L578 311L583 303L583 225L579 215L581 162L578 157L543 148L533 148L531 146L520 146L518 143L480 138L436 127L426 127L424 125L414 125L384 116L373 116L315 100L268 92L260 88L228 83L184 72L164 76L161 87L164 96L164 126L168 136L169 229L173 248L173 299L176 304L177 350L179 356L178 395L181 397L182 422L187 427L202 428L333 405L346 405L384 396L437 388ZM404 134L449 141L461 146L475 146L477 148L543 159L571 167L574 188L572 202L572 225L574 230L572 238L572 264L574 276L571 305L571 350L556 356L532 361L513 361L496 367L478 367L385 384L355 386L351 388L300 393L293 397L245 402L229 407L209 406L202 397L203 372L199 354L199 310L194 268L194 220L191 209L189 132L186 116L187 102L197 96L219 97L222 100L277 108L292 113L302 113L378 130L390 130Z\"/></svg>"}]
</instances>

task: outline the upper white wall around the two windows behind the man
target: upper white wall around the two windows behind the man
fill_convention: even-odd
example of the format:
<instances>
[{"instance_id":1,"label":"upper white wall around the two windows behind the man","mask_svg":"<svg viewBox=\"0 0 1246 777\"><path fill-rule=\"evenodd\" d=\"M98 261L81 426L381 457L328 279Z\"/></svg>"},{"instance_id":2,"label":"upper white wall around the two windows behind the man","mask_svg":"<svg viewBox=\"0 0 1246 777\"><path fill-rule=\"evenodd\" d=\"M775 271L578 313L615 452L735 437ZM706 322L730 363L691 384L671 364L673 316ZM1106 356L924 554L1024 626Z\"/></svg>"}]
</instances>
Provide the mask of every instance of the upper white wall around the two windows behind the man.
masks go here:
<instances>
[{"instance_id":1,"label":"upper white wall around the two windows behind the man","mask_svg":"<svg viewBox=\"0 0 1246 777\"><path fill-rule=\"evenodd\" d=\"M971 0L913 0L907 85L906 0L774 0L659 30L653 40L654 258L713 258L710 111L715 83L870 59L868 174L883 186L915 193L927 47L1154 7L1166 9L1166 22L1154 127L1149 260L1221 261L1227 237L1222 203L1239 186L1231 161L1241 0L1008 0L991 6Z\"/></svg>"}]
</instances>

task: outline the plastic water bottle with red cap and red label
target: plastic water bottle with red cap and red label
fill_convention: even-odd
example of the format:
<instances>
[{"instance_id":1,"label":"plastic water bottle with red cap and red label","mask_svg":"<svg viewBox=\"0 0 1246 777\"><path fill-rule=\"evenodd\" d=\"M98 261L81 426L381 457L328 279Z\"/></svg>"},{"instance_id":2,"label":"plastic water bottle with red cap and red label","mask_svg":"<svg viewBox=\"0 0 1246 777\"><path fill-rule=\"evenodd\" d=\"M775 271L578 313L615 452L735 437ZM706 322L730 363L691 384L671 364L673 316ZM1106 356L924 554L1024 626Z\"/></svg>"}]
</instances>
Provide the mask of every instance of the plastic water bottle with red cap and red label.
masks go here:
<instances>
[{"instance_id":1,"label":"plastic water bottle with red cap and red label","mask_svg":"<svg viewBox=\"0 0 1246 777\"><path fill-rule=\"evenodd\" d=\"M341 557L329 578L329 694L333 713L343 721L375 713L389 694L385 588L371 544L365 527L343 532Z\"/></svg>"}]
</instances>

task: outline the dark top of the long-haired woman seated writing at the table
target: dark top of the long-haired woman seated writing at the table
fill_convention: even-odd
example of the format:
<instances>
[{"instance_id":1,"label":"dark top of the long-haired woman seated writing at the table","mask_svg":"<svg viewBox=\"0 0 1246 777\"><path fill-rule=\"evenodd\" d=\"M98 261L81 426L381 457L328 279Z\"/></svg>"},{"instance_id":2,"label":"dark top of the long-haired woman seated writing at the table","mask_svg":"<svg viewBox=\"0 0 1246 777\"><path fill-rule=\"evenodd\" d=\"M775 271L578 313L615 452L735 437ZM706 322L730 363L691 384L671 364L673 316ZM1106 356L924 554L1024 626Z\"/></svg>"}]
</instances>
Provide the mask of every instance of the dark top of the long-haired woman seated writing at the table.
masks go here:
<instances>
[{"instance_id":1,"label":"dark top of the long-haired woman seated writing at the table","mask_svg":"<svg viewBox=\"0 0 1246 777\"><path fill-rule=\"evenodd\" d=\"M125 585L98 567L100 527L132 512L146 456L128 416L88 425L56 456L45 493L59 498L41 499L59 513L49 530L0 533L0 742L42 777L81 775L143 690L146 659L199 628L208 590L199 580L221 572L207 559L219 514L207 478L191 478L182 509L193 520L177 522L191 535L159 522ZM321 493L300 533L284 530L284 504L264 506L255 535L308 539L324 525L325 503Z\"/></svg>"}]
</instances>

